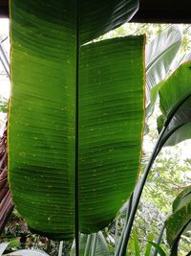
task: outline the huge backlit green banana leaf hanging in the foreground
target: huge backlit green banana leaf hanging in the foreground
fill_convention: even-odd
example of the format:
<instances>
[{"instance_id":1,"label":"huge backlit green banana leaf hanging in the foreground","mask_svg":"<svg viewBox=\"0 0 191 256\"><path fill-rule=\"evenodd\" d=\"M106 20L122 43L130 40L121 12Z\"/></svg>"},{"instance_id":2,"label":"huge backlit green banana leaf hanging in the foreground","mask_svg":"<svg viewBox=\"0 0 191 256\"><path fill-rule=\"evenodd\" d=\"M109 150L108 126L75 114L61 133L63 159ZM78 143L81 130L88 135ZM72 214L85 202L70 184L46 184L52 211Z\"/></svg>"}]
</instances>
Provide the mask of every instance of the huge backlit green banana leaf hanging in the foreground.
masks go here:
<instances>
[{"instance_id":1,"label":"huge backlit green banana leaf hanging in the foreground","mask_svg":"<svg viewBox=\"0 0 191 256\"><path fill-rule=\"evenodd\" d=\"M144 37L80 46L137 1L97 3L11 1L11 193L32 229L62 240L112 221L138 176Z\"/></svg>"}]
</instances>

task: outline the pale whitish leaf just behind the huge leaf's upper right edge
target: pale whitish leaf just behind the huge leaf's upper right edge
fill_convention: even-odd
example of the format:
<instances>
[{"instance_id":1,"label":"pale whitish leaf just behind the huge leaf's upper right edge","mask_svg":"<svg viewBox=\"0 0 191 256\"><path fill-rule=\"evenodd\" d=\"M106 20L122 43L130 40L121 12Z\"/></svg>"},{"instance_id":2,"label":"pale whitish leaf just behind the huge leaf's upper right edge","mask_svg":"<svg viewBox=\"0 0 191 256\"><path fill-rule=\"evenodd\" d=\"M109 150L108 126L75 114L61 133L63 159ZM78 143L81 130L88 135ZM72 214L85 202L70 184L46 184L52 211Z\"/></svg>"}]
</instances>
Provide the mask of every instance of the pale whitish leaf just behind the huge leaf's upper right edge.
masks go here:
<instances>
[{"instance_id":1,"label":"pale whitish leaf just behind the huge leaf's upper right edge","mask_svg":"<svg viewBox=\"0 0 191 256\"><path fill-rule=\"evenodd\" d=\"M160 81L163 81L180 49L182 36L179 25L169 26L146 46L147 116L151 115L157 100Z\"/></svg>"}]
</instances>

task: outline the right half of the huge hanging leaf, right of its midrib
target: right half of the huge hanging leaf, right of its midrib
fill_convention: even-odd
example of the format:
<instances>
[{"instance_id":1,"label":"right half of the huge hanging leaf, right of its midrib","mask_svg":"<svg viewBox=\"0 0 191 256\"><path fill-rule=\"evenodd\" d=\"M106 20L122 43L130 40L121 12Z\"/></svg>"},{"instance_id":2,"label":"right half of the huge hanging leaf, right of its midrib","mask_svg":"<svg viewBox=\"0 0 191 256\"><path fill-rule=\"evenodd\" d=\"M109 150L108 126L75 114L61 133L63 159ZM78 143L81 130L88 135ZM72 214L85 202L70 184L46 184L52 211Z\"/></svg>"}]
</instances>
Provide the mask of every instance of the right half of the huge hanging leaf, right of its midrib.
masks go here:
<instances>
[{"instance_id":1,"label":"right half of the huge hanging leaf, right of its midrib","mask_svg":"<svg viewBox=\"0 0 191 256\"><path fill-rule=\"evenodd\" d=\"M134 61L140 63L138 69L141 70L142 64L138 59L141 59L142 40L142 36L110 39L85 46L82 54L80 74L83 80L80 84L83 86L79 91L79 195L80 198L87 199L79 208L81 216L87 218L84 226L87 226L88 219L89 222L94 222L92 218L95 215L93 232L103 228L104 219L111 221L115 218L115 208L119 209L130 196L137 179L140 130L143 126L139 118L139 115L143 115L142 84L138 84L141 81L140 73L138 75L134 71L134 65L128 59L133 51ZM107 51L108 54L105 55ZM106 77L110 79L106 80ZM135 89L136 85L138 89ZM88 125L85 126L87 120ZM133 130L137 130L135 123L138 132L133 133ZM102 194L105 198L102 198ZM126 198L122 195L126 195ZM83 233L87 231L82 230Z\"/></svg>"}]
</instances>

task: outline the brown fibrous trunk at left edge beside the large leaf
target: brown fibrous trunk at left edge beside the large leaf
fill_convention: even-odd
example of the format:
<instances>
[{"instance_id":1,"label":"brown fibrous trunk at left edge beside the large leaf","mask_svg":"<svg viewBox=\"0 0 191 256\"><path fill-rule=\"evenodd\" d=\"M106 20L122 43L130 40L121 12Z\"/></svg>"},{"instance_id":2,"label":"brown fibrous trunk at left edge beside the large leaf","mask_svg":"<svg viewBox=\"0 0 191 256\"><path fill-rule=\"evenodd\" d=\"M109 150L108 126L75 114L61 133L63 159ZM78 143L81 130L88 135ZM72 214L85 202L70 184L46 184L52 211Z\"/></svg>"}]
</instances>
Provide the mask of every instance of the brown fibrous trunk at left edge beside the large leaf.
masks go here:
<instances>
[{"instance_id":1,"label":"brown fibrous trunk at left edge beside the large leaf","mask_svg":"<svg viewBox=\"0 0 191 256\"><path fill-rule=\"evenodd\" d=\"M13 210L8 184L7 126L0 138L0 233L2 233Z\"/></svg>"}]
</instances>

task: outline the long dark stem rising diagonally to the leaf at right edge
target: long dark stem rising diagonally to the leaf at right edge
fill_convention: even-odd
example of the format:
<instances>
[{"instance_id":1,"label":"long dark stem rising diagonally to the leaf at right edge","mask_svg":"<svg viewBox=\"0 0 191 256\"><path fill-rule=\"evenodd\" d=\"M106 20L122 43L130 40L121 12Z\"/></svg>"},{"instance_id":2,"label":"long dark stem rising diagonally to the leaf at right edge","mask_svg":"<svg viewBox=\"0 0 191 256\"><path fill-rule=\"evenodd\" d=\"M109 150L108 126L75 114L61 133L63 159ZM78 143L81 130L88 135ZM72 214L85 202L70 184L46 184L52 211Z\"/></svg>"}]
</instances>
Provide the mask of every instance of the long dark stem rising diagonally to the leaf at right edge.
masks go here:
<instances>
[{"instance_id":1,"label":"long dark stem rising diagonally to the leaf at right edge","mask_svg":"<svg viewBox=\"0 0 191 256\"><path fill-rule=\"evenodd\" d=\"M133 222L134 222L134 219L135 219L135 216L136 216L136 212L137 212L137 209L138 209L138 202L139 202L139 199L141 197L141 194L142 194L142 191L143 191L143 187L144 187L144 184L146 182L146 178L149 174L149 171L160 151L160 141L161 141L161 138L166 130L167 126L163 127L159 133L159 138L158 138L158 141L156 143L156 146L155 146L155 149L154 151L152 152L151 154L151 158L148 162L148 165L142 175L142 178L140 180L140 184L139 184L139 188L138 188L138 194L137 194L137 197L135 198L135 201L134 201L134 204L133 204L133 207L132 207L132 211L130 213L130 217L129 217L129 220L126 224L126 227L125 227L125 231L124 231L124 236L123 236L123 241L122 241L122 244L121 244L121 248L120 248L120 252L117 256L125 256L126 255L126 248L127 248L127 245L128 245L128 242L129 242L129 238L130 238L130 234L131 234L131 230L132 230L132 226L133 226Z\"/></svg>"}]
</instances>

